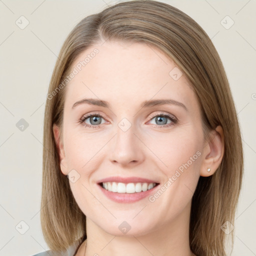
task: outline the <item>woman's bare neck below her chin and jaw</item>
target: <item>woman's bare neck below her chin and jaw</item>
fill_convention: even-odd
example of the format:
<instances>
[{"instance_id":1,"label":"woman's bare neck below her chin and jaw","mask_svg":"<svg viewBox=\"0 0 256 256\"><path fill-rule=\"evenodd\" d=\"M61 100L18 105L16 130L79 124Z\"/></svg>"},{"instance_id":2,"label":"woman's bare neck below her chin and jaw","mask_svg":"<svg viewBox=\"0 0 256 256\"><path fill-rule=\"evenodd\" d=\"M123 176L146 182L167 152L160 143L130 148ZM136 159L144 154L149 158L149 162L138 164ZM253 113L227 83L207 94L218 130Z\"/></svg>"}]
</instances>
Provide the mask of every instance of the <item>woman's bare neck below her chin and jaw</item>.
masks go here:
<instances>
[{"instance_id":1,"label":"woman's bare neck below her chin and jaw","mask_svg":"<svg viewBox=\"0 0 256 256\"><path fill-rule=\"evenodd\" d=\"M191 202L179 215L168 222L161 221L163 223L161 226L152 227L150 231L143 234L132 233L131 227L124 235L112 235L96 225L91 219L86 218L87 239L82 246L85 249L87 242L85 255L194 255L189 248L190 207Z\"/></svg>"}]
</instances>

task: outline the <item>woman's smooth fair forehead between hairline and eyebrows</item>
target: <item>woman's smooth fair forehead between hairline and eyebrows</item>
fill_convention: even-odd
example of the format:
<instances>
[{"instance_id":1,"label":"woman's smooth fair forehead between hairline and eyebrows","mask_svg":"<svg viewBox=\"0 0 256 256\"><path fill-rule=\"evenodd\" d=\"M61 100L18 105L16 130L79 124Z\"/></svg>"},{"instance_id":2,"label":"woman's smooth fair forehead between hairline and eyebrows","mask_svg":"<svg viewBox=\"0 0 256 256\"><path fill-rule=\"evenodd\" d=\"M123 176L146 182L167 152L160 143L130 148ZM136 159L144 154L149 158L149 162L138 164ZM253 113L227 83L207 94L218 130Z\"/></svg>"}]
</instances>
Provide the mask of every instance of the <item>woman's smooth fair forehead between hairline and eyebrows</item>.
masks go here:
<instances>
[{"instance_id":1,"label":"woman's smooth fair forehead between hairline and eyebrows","mask_svg":"<svg viewBox=\"0 0 256 256\"><path fill-rule=\"evenodd\" d=\"M68 105L84 97L129 106L151 98L195 100L189 81L173 60L144 43L95 44L78 55L74 69L77 73L66 87Z\"/></svg>"}]
</instances>

